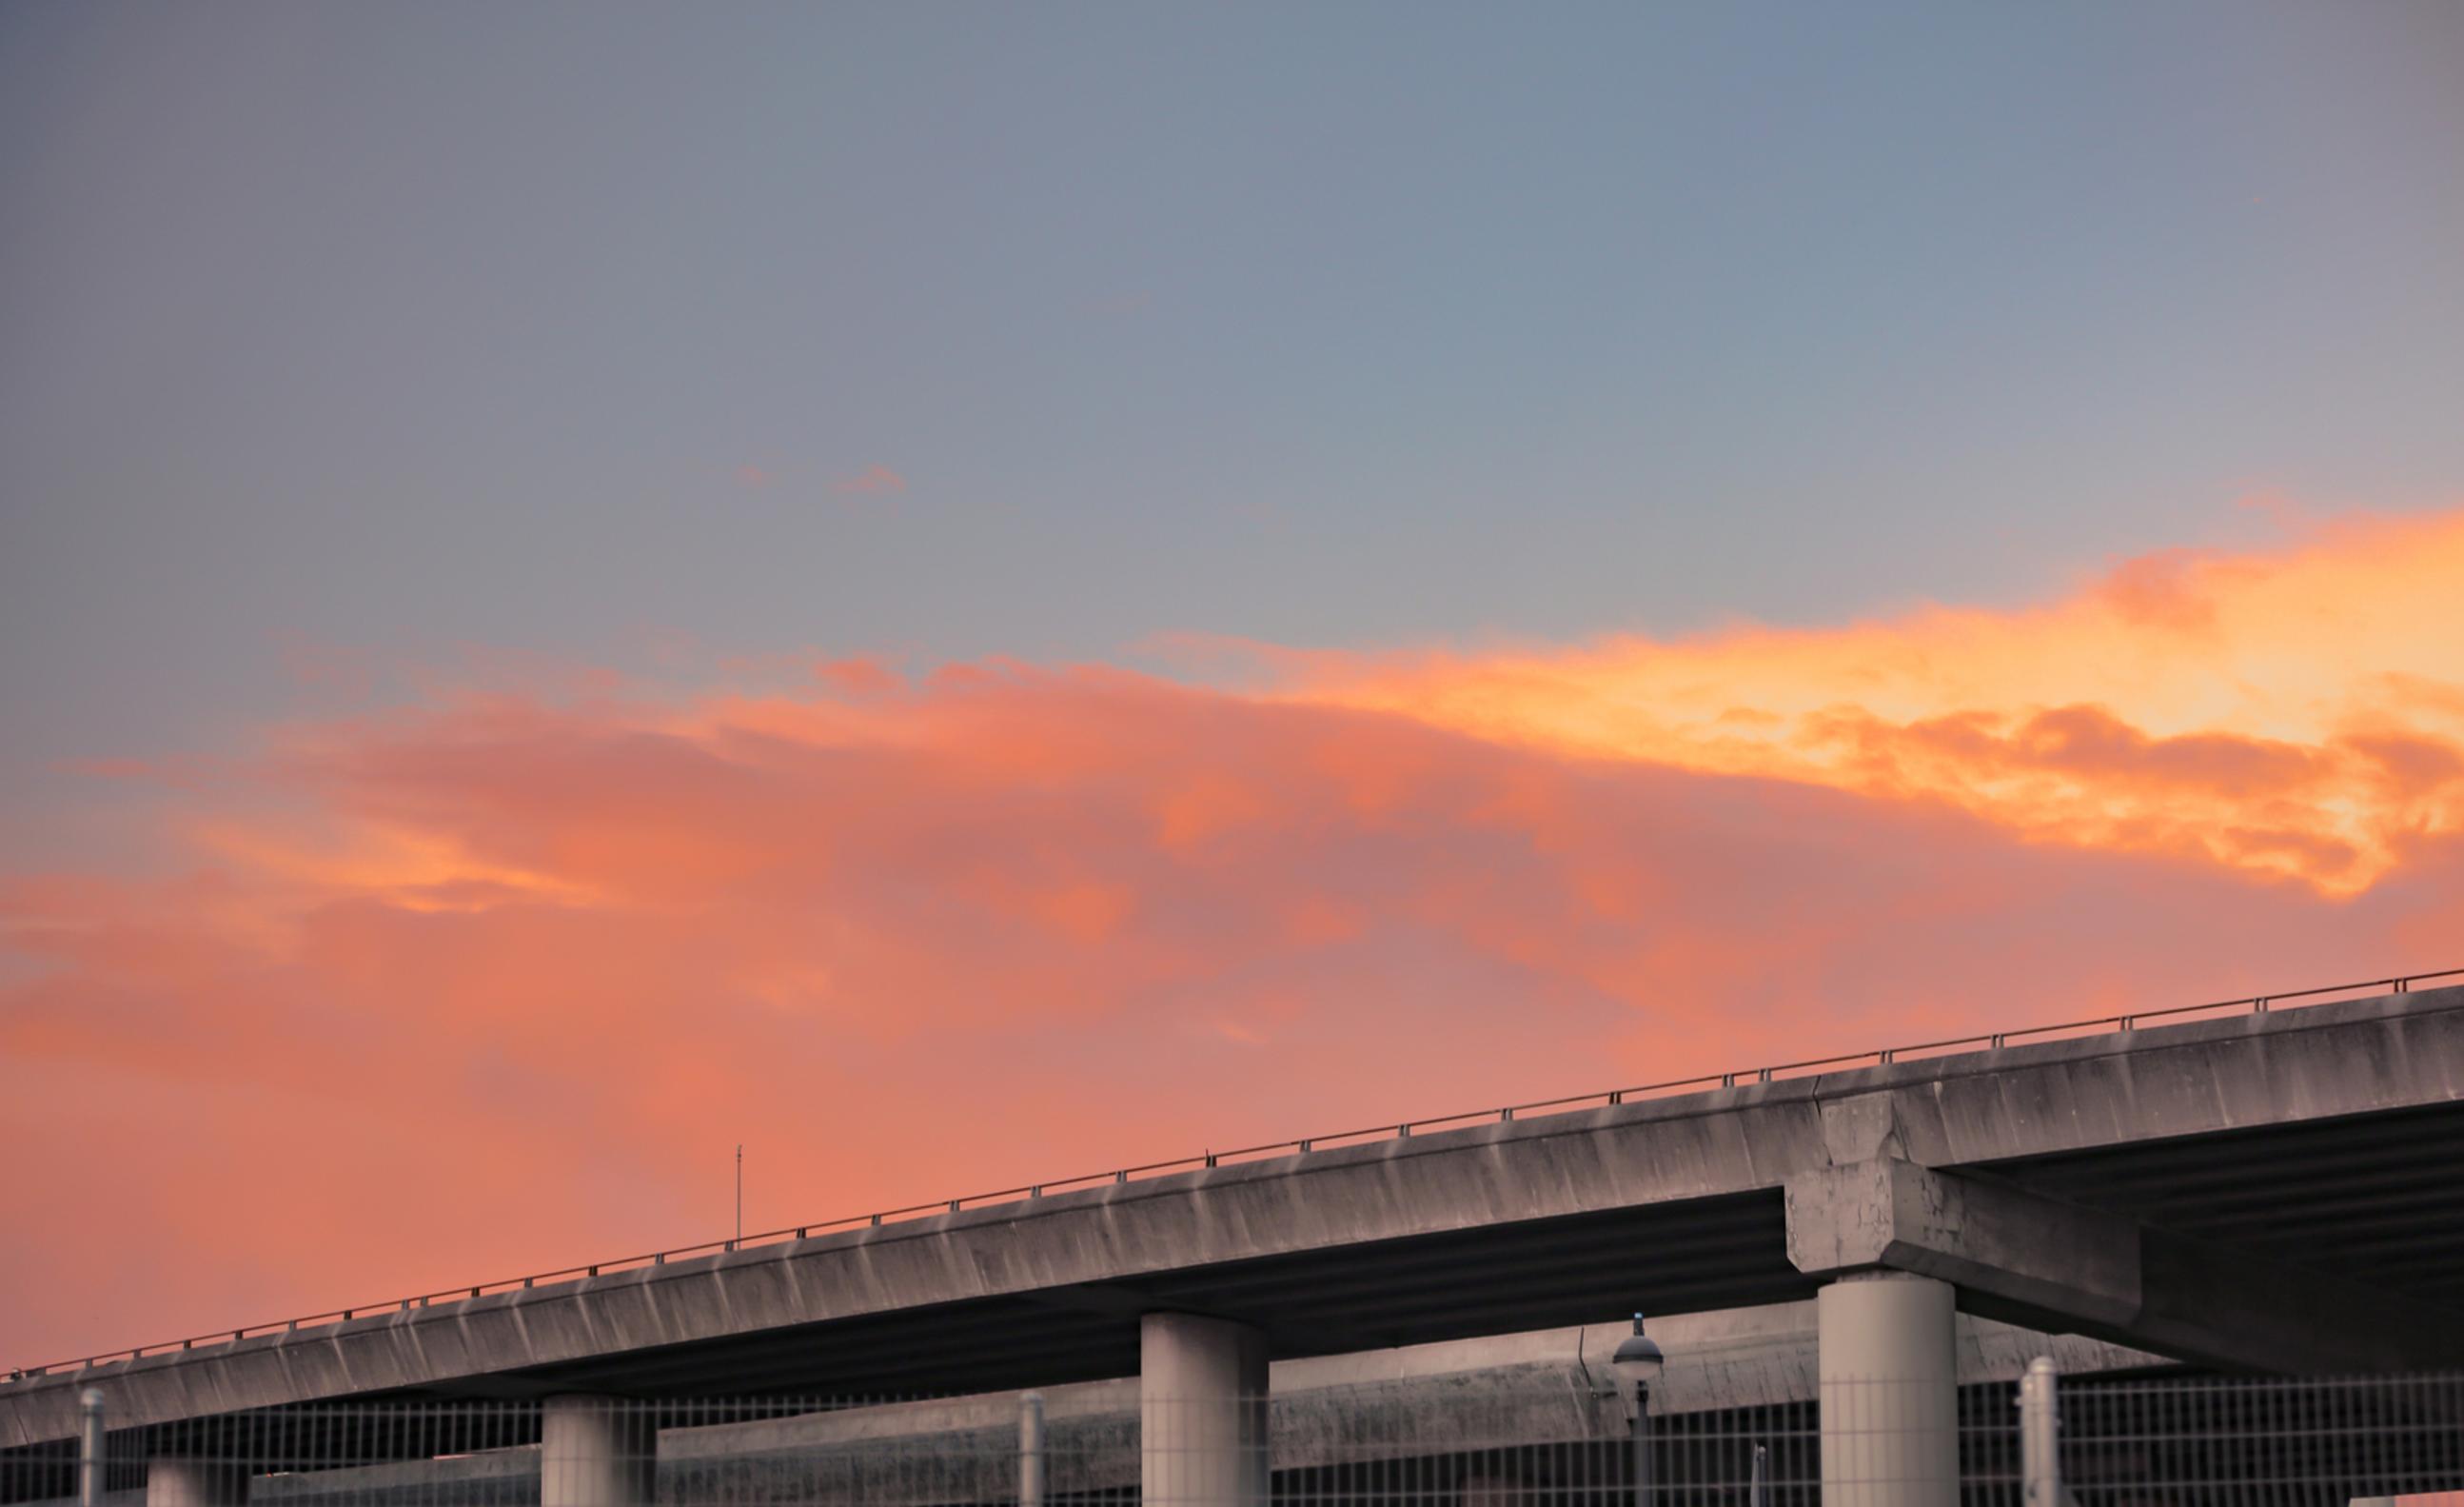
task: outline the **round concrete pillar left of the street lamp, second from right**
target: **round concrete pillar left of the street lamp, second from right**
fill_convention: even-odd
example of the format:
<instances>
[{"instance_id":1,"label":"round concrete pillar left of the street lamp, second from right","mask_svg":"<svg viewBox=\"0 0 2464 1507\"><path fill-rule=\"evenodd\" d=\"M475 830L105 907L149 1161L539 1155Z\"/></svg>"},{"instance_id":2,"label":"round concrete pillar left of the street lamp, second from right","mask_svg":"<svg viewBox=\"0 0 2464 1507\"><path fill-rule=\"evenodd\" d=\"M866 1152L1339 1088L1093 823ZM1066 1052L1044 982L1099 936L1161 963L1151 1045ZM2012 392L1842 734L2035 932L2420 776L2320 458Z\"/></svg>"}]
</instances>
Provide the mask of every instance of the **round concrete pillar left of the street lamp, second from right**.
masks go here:
<instances>
[{"instance_id":1,"label":"round concrete pillar left of the street lamp, second from right","mask_svg":"<svg viewBox=\"0 0 2464 1507\"><path fill-rule=\"evenodd\" d=\"M1264 1507L1266 1334L1198 1315L1138 1322L1141 1507Z\"/></svg>"}]
</instances>

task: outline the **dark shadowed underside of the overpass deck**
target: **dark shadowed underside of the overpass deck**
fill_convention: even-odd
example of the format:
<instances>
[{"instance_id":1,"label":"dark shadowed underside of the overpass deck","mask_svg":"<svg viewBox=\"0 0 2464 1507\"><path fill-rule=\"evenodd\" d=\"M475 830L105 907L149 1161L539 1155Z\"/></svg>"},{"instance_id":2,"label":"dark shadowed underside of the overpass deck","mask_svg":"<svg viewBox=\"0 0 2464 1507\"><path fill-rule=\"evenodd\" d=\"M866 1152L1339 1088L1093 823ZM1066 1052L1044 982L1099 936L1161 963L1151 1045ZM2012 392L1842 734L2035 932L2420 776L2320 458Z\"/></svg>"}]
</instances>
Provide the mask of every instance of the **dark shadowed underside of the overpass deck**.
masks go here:
<instances>
[{"instance_id":1,"label":"dark shadowed underside of the overpass deck","mask_svg":"<svg viewBox=\"0 0 2464 1507\"><path fill-rule=\"evenodd\" d=\"M2321 1280L2464 1312L2464 1103L2139 1142L1974 1172ZM1138 1315L1257 1324L1279 1357L1811 1297L1779 1189L1478 1226L641 1349L416 1396L949 1396L1136 1376ZM2060 1312L1979 1312L2050 1322ZM2124 1334L2126 1339L2126 1334ZM2464 1354L2454 1357L2464 1361Z\"/></svg>"}]
</instances>

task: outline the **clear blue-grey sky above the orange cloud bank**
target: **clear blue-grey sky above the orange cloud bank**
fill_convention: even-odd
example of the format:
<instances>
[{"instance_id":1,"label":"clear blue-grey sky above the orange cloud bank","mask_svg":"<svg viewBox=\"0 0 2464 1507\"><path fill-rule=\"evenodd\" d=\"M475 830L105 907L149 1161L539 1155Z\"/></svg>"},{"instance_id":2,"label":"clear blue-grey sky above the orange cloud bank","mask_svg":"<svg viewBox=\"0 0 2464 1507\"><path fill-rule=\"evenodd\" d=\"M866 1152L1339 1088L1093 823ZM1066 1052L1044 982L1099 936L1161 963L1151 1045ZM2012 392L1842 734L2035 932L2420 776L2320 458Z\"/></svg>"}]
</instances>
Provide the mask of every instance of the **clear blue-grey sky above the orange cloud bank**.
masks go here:
<instances>
[{"instance_id":1,"label":"clear blue-grey sky above the orange cloud bank","mask_svg":"<svg viewBox=\"0 0 2464 1507\"><path fill-rule=\"evenodd\" d=\"M0 770L286 644L1831 622L2447 501L2459 81L2452 5L12 5Z\"/></svg>"}]
</instances>

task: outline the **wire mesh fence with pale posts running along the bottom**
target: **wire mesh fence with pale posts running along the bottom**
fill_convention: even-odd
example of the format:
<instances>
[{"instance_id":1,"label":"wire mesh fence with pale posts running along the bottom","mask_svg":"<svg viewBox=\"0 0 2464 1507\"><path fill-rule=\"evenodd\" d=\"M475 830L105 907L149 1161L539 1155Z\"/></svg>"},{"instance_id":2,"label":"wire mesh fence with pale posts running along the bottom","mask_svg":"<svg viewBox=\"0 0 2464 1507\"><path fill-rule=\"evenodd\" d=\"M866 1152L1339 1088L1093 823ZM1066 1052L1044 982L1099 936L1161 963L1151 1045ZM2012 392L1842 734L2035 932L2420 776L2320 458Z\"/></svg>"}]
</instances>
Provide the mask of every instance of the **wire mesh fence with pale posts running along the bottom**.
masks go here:
<instances>
[{"instance_id":1,"label":"wire mesh fence with pale posts running along the bottom","mask_svg":"<svg viewBox=\"0 0 2464 1507\"><path fill-rule=\"evenodd\" d=\"M121 1426L0 1455L67 1507L2464 1507L2464 1374L1823 1381L1326 1396L411 1401ZM1646 1391L1648 1396L1648 1391Z\"/></svg>"}]
</instances>

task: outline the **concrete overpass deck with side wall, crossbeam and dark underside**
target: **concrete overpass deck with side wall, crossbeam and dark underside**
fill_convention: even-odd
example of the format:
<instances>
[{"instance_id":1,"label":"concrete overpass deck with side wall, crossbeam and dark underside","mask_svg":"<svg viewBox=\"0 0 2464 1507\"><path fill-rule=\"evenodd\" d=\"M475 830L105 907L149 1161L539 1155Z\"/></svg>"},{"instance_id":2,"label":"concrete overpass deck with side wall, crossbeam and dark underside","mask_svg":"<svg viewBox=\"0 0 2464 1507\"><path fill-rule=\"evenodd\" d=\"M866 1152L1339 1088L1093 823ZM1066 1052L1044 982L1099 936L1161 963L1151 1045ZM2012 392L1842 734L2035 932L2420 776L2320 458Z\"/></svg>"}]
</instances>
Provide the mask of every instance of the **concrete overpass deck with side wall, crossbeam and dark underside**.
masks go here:
<instances>
[{"instance_id":1,"label":"concrete overpass deck with side wall, crossbeam and dark underside","mask_svg":"<svg viewBox=\"0 0 2464 1507\"><path fill-rule=\"evenodd\" d=\"M2464 989L2257 1009L1116 1181L0 1384L0 1450L345 1398L971 1394L1801 1302L2213 1366L2464 1361ZM1947 1381L1944 1381L1947 1386ZM1932 1406L1932 1403L1927 1403ZM549 1411L552 1413L552 1411Z\"/></svg>"}]
</instances>

